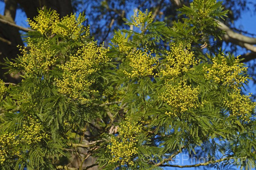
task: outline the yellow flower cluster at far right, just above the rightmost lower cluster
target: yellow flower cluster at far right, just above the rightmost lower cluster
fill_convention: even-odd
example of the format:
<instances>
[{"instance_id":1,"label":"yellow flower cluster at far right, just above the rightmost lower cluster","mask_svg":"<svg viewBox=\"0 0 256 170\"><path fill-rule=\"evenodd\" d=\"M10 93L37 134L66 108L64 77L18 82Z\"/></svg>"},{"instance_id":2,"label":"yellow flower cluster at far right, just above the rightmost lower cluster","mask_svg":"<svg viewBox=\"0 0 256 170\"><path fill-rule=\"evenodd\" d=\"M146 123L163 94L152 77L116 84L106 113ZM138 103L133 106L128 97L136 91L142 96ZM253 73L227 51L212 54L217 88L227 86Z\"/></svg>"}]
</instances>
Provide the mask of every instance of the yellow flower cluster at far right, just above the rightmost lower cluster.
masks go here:
<instances>
[{"instance_id":1,"label":"yellow flower cluster at far right, just above the rightmost lower cluster","mask_svg":"<svg viewBox=\"0 0 256 170\"><path fill-rule=\"evenodd\" d=\"M206 71L205 77L208 80L213 78L215 82L239 91L238 87L241 87L241 84L248 78L248 76L244 77L240 74L246 72L248 67L243 67L243 63L239 63L238 57L232 66L228 65L227 58L224 56L221 56L221 63L218 63L217 58L215 58L212 67L203 67Z\"/></svg>"}]
</instances>

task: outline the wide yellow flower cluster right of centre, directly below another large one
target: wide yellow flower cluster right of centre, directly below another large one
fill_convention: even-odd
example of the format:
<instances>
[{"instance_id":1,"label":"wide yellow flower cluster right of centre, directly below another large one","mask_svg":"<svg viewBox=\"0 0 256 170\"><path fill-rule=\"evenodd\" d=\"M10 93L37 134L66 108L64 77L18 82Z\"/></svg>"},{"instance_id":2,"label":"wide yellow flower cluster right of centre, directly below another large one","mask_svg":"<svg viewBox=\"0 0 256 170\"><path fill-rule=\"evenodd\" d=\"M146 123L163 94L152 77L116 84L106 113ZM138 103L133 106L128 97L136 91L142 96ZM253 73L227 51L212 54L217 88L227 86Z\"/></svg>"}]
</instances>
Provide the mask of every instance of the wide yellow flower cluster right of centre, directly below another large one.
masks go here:
<instances>
[{"instance_id":1,"label":"wide yellow flower cluster right of centre, directly below another large one","mask_svg":"<svg viewBox=\"0 0 256 170\"><path fill-rule=\"evenodd\" d=\"M165 82L166 91L162 94L158 94L158 98L161 98L163 102L167 102L168 105L174 108L174 112L182 113L186 112L188 108L197 108L202 103L196 103L199 95L199 88L193 88L191 85L187 85L186 82L182 81L178 85L173 86L172 84ZM168 116L174 115L175 113L168 113Z\"/></svg>"}]
</instances>

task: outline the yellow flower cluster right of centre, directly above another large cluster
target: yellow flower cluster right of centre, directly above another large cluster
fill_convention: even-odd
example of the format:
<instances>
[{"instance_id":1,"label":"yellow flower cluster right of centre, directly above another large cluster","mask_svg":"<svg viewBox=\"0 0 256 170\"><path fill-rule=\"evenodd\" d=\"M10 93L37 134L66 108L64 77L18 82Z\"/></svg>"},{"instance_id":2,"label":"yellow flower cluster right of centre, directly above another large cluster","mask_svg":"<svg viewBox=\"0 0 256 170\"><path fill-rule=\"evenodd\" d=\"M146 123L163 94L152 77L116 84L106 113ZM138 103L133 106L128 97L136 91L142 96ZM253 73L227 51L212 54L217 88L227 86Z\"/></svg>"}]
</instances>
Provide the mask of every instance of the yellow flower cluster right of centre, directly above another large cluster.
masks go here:
<instances>
[{"instance_id":1,"label":"yellow flower cluster right of centre, directly above another large cluster","mask_svg":"<svg viewBox=\"0 0 256 170\"><path fill-rule=\"evenodd\" d=\"M163 76L171 78L193 69L191 68L191 65L194 63L198 64L200 62L195 60L193 52L190 51L190 46L188 46L187 50L184 51L182 43L179 44L179 47L173 45L170 48L170 52L167 53L166 58L167 63L164 64L166 69L162 70L161 73Z\"/></svg>"}]
</instances>

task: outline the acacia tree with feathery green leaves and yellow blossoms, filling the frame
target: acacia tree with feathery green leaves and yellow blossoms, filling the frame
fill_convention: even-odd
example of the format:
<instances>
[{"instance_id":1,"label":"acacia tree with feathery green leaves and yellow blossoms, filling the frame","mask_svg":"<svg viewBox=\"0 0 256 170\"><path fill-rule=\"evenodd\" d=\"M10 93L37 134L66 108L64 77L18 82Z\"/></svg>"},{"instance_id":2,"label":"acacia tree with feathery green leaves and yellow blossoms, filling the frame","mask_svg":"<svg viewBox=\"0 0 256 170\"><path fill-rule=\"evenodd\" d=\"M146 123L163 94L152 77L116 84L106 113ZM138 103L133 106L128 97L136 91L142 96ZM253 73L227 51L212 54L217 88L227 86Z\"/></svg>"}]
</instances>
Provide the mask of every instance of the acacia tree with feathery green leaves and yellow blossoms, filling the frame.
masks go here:
<instances>
[{"instance_id":1,"label":"acacia tree with feathery green leaves and yellow blossoms, filling the frame","mask_svg":"<svg viewBox=\"0 0 256 170\"><path fill-rule=\"evenodd\" d=\"M3 63L24 74L21 83L0 82L1 168L254 168L247 67L205 46L223 35L218 19L227 11L195 0L180 12L186 17L171 28L134 12L125 19L134 30L115 31L108 48L90 37L83 14L44 10L28 19L29 50L18 46L20 55ZM170 164L180 153L207 161Z\"/></svg>"}]
</instances>

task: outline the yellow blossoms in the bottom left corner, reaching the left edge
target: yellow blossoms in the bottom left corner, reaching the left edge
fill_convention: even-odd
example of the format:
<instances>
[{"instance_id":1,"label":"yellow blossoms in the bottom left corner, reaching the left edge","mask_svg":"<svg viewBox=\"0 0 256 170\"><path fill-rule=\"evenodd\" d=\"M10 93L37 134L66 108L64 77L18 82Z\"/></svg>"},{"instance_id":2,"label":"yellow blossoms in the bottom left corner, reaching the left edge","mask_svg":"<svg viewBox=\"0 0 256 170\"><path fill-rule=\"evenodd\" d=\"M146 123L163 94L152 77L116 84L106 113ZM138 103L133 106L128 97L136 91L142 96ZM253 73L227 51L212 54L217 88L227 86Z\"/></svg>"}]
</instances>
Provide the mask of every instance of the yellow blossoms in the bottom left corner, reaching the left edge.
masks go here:
<instances>
[{"instance_id":1,"label":"yellow blossoms in the bottom left corner, reaching the left edge","mask_svg":"<svg viewBox=\"0 0 256 170\"><path fill-rule=\"evenodd\" d=\"M31 116L31 115L30 115ZM43 136L40 134L41 123L38 120L29 119L29 125L23 125L23 131L20 130L18 133L8 133L0 136L0 162L4 163L6 155L8 157L21 156L20 147L21 143L30 145L32 143L40 142ZM47 137L47 135L46 135Z\"/></svg>"}]
</instances>

